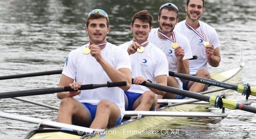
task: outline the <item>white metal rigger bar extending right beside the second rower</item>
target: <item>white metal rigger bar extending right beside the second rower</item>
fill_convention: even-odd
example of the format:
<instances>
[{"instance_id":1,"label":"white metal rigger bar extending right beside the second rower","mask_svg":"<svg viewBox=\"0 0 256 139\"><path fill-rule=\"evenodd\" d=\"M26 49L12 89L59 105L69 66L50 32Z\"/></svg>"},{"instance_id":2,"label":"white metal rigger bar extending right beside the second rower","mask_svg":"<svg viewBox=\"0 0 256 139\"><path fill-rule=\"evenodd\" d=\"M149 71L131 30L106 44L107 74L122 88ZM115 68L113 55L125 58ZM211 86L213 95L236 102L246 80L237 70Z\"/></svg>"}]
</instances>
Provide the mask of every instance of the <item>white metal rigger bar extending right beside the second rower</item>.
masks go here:
<instances>
[{"instance_id":1,"label":"white metal rigger bar extending right beside the second rower","mask_svg":"<svg viewBox=\"0 0 256 139\"><path fill-rule=\"evenodd\" d=\"M227 117L220 112L125 111L125 116Z\"/></svg>"}]
</instances>

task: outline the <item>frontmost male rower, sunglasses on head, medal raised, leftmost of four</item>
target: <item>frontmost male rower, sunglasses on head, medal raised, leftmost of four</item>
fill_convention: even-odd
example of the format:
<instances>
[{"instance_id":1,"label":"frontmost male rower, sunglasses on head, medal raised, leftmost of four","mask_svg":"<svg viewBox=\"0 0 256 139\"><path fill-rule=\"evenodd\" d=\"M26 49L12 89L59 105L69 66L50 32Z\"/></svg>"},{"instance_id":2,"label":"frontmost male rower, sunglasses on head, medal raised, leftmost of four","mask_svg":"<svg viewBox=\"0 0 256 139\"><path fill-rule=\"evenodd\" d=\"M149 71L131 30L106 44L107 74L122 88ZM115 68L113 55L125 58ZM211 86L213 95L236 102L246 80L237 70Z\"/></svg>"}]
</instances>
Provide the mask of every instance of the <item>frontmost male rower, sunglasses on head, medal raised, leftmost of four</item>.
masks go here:
<instances>
[{"instance_id":1,"label":"frontmost male rower, sunglasses on head, medal raised, leftmost of four","mask_svg":"<svg viewBox=\"0 0 256 139\"><path fill-rule=\"evenodd\" d=\"M70 86L74 91L57 94L62 99L57 121L100 129L119 125L125 111L123 92L131 86L129 55L106 41L110 27L105 11L92 10L85 31L89 43L69 53L62 71L59 87ZM107 81L126 81L127 86L78 90L81 84Z\"/></svg>"}]
</instances>

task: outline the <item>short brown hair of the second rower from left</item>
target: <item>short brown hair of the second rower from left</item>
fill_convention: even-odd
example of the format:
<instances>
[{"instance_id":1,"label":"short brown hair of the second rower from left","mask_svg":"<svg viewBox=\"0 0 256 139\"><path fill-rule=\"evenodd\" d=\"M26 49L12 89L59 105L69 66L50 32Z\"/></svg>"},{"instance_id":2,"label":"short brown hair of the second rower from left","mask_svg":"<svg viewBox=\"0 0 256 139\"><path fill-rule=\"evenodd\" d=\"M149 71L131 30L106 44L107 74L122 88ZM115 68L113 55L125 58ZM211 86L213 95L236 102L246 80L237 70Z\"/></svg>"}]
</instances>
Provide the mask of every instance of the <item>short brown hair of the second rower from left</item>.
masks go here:
<instances>
[{"instance_id":1,"label":"short brown hair of the second rower from left","mask_svg":"<svg viewBox=\"0 0 256 139\"><path fill-rule=\"evenodd\" d=\"M132 17L132 21L131 21L132 25L134 24L134 21L135 21L136 18L142 20L143 22L149 23L149 27L152 27L152 23L153 23L154 18L151 15L151 13L149 13L147 10L142 10L140 12L136 12Z\"/></svg>"}]
</instances>

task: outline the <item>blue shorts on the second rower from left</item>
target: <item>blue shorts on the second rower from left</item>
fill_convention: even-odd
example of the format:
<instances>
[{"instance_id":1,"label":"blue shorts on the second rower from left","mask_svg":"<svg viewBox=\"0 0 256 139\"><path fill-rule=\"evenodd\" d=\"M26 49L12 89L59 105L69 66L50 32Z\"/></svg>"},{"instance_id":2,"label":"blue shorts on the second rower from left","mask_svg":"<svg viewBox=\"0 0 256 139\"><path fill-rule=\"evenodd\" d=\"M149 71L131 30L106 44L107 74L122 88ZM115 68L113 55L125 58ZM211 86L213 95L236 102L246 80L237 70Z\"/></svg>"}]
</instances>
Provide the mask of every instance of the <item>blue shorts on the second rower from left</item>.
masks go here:
<instances>
[{"instance_id":1,"label":"blue shorts on the second rower from left","mask_svg":"<svg viewBox=\"0 0 256 139\"><path fill-rule=\"evenodd\" d=\"M125 92L125 97L126 97L126 105L125 105L125 110L126 111L133 111L133 104L134 102L142 95L140 93L132 93L132 92ZM156 109L154 108L152 111L155 111Z\"/></svg>"}]
</instances>

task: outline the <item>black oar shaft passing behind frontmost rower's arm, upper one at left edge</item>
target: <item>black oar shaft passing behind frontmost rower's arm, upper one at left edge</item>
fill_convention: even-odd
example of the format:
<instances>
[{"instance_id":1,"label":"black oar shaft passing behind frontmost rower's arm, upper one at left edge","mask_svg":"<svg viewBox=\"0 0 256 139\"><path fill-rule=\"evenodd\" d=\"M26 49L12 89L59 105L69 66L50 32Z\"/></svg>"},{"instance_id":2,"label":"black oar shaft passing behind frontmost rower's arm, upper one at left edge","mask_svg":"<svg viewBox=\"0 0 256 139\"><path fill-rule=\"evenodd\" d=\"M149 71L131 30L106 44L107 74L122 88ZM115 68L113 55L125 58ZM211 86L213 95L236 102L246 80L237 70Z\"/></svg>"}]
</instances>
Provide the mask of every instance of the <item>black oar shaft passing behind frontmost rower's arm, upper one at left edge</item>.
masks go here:
<instances>
[{"instance_id":1,"label":"black oar shaft passing behind frontmost rower's arm, upper one at left edge","mask_svg":"<svg viewBox=\"0 0 256 139\"><path fill-rule=\"evenodd\" d=\"M0 80L61 74L61 72L62 70L54 70L54 71L45 71L45 72L32 72L32 73L24 73L24 74L7 75L7 76L0 76Z\"/></svg>"}]
</instances>

